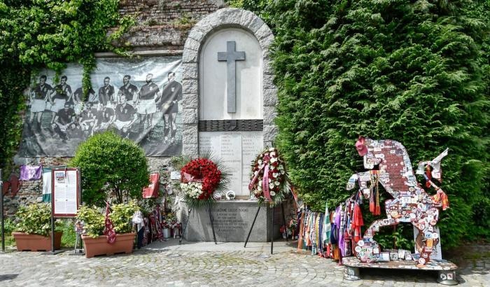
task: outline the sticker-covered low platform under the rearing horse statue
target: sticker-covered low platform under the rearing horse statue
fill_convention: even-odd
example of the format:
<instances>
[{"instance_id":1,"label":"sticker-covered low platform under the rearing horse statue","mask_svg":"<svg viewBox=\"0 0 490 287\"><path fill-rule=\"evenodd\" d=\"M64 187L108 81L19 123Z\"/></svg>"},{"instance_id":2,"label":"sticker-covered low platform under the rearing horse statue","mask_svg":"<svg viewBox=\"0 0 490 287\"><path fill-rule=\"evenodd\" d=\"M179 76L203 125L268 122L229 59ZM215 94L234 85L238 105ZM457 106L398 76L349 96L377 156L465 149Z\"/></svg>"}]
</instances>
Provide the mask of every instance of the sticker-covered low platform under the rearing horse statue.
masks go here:
<instances>
[{"instance_id":1,"label":"sticker-covered low platform under the rearing horse statue","mask_svg":"<svg viewBox=\"0 0 490 287\"><path fill-rule=\"evenodd\" d=\"M456 280L456 269L458 268L453 262L447 260L432 260L423 267L417 266L416 261L411 260L391 260L389 262L371 262L363 263L356 257L342 258L342 264L345 266L344 279L359 280L359 268L379 268L379 269L414 269L423 271L437 271L437 282L443 285L458 285Z\"/></svg>"}]
</instances>

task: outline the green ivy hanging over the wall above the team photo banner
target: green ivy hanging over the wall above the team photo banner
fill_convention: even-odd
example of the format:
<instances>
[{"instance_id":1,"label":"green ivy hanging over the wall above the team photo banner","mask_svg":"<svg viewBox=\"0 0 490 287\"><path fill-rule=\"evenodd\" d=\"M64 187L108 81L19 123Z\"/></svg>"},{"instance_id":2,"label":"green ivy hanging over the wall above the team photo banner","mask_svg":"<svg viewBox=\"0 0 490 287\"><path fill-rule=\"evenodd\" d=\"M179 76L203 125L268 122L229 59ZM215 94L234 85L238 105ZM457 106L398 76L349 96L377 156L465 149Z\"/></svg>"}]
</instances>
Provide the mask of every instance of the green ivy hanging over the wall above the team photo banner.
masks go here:
<instances>
[{"instance_id":1,"label":"green ivy hanging over the wall above the team photo banner","mask_svg":"<svg viewBox=\"0 0 490 287\"><path fill-rule=\"evenodd\" d=\"M134 24L120 17L118 7L118 0L0 0L0 167L10 169L18 148L22 91L31 72L49 68L59 74L66 62L79 62L87 92L94 52L122 52L112 43ZM118 31L108 36L116 26Z\"/></svg>"}]
</instances>

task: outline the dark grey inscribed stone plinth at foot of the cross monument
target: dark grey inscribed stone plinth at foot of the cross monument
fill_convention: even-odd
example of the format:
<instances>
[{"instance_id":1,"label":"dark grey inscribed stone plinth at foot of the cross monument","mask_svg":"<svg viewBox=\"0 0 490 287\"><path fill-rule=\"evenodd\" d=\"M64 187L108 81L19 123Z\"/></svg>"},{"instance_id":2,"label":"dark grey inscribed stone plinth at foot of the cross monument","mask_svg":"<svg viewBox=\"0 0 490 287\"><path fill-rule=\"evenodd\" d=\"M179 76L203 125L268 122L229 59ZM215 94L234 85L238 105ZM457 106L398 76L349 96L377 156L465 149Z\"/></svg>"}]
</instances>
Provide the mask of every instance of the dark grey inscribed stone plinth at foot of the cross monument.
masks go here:
<instances>
[{"instance_id":1,"label":"dark grey inscribed stone plinth at foot of the cross monument","mask_svg":"<svg viewBox=\"0 0 490 287\"><path fill-rule=\"evenodd\" d=\"M284 210L288 204L285 202ZM211 207L211 215L214 218L214 230L218 242L244 242L246 235L257 213L258 203L255 200L223 200ZM181 202L181 221L186 222L187 206ZM183 238L187 241L213 241L213 232L207 207L193 209L190 213L188 226ZM286 214L286 218L288 218ZM271 233L274 239L281 237L279 228L283 225L281 206L274 211L274 228L271 227L272 209L262 205L257 220L251 232L250 242L267 242ZM286 223L288 224L288 223Z\"/></svg>"}]
</instances>

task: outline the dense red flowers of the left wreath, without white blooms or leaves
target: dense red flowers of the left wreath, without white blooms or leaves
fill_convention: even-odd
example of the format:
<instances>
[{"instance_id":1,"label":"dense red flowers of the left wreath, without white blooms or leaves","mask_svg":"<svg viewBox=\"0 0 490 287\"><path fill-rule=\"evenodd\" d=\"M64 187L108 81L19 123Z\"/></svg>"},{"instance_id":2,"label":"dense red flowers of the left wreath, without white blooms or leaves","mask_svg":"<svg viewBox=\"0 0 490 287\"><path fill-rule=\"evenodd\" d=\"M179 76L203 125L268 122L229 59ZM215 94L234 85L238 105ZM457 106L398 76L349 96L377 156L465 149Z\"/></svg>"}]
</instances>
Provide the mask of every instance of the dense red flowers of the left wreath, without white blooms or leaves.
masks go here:
<instances>
[{"instance_id":1,"label":"dense red flowers of the left wreath, without white blooms or leaves","mask_svg":"<svg viewBox=\"0 0 490 287\"><path fill-rule=\"evenodd\" d=\"M197 200L208 200L213 195L220 181L221 170L207 158L191 160L181 169L182 183L202 183L202 194L197 197Z\"/></svg>"}]
</instances>

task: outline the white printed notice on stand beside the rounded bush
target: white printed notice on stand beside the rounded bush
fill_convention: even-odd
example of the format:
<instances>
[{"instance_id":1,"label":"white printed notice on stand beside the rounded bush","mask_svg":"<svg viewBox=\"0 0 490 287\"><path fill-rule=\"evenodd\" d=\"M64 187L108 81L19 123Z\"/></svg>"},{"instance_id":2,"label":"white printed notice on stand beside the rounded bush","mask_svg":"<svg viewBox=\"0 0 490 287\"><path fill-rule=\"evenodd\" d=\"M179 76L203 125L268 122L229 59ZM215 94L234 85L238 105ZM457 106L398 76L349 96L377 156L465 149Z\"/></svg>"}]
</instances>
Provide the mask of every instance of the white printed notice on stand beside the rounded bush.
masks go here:
<instances>
[{"instance_id":1,"label":"white printed notice on stand beside the rounded bush","mask_svg":"<svg viewBox=\"0 0 490 287\"><path fill-rule=\"evenodd\" d=\"M76 214L77 212L77 188L76 170L53 171L55 173L54 193L52 200L55 204L55 214Z\"/></svg>"}]
</instances>

